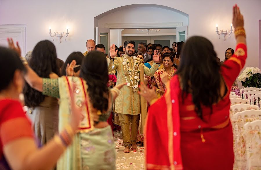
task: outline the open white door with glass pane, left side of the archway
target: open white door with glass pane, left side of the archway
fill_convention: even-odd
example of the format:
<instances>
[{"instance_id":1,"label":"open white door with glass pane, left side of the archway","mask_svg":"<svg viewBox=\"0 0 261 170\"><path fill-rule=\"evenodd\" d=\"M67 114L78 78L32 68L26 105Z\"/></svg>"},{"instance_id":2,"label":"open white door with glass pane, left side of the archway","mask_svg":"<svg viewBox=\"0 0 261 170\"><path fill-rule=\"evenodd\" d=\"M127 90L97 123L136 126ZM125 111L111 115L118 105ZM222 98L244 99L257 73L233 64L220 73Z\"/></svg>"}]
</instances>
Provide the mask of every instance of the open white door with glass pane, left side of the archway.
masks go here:
<instances>
[{"instance_id":1,"label":"open white door with glass pane, left side of the archway","mask_svg":"<svg viewBox=\"0 0 261 170\"><path fill-rule=\"evenodd\" d=\"M106 53L109 54L110 48L110 28L96 27L96 44L103 44Z\"/></svg>"}]
</instances>

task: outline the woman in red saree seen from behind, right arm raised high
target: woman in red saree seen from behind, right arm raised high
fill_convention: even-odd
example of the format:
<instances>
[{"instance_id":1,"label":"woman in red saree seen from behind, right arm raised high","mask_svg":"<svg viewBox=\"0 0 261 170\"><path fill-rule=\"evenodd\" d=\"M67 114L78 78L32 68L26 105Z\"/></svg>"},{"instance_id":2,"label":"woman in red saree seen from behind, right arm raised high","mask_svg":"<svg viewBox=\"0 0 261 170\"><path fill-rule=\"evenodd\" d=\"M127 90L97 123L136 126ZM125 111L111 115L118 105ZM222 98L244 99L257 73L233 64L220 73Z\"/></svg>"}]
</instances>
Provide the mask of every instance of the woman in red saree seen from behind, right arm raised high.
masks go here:
<instances>
[{"instance_id":1,"label":"woman in red saree seen from behind, right arm raised high","mask_svg":"<svg viewBox=\"0 0 261 170\"><path fill-rule=\"evenodd\" d=\"M194 36L186 41L180 67L162 98L140 86L140 94L152 104L145 134L147 169L233 169L229 92L247 58L237 6L233 25L236 52L223 65L211 42Z\"/></svg>"}]
</instances>

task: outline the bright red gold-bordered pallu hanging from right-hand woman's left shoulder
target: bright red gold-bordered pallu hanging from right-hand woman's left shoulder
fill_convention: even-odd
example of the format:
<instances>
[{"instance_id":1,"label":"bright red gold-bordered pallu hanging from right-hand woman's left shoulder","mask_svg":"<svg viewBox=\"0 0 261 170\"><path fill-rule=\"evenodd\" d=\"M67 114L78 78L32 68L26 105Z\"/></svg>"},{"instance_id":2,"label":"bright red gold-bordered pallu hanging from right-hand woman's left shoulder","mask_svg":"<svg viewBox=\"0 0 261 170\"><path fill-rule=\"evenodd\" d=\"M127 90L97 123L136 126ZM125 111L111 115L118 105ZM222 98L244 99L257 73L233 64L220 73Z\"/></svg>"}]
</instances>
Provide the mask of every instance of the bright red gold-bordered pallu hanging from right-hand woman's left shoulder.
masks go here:
<instances>
[{"instance_id":1,"label":"bright red gold-bordered pallu hanging from right-hand woman's left shoulder","mask_svg":"<svg viewBox=\"0 0 261 170\"><path fill-rule=\"evenodd\" d=\"M174 93L173 95L171 93L172 90L176 91L175 89L178 89L178 87L177 76L174 76L168 82L164 97L160 98L149 108L145 128L147 169L183 169L180 150L178 94ZM161 144L161 149L155 149L159 143Z\"/></svg>"}]
</instances>

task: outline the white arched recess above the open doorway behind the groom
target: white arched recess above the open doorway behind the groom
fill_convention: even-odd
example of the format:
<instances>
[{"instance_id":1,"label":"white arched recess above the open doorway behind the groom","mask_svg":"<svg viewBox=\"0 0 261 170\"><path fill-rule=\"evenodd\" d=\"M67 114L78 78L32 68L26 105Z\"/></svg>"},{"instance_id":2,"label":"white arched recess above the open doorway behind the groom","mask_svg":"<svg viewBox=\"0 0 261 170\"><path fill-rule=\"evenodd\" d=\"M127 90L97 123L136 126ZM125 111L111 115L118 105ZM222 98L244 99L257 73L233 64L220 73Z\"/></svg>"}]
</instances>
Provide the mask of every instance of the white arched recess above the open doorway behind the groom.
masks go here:
<instances>
[{"instance_id":1,"label":"white arched recess above the open doorway behind the groom","mask_svg":"<svg viewBox=\"0 0 261 170\"><path fill-rule=\"evenodd\" d=\"M133 4L114 8L94 17L94 29L96 42L107 41L107 49L110 37L115 37L113 43L121 44L121 32L110 35L110 30L119 29L147 29L147 28L182 28L189 36L189 15L167 6L155 4ZM184 34L183 34L184 36ZM178 38L177 38L178 39ZM116 43L116 44L117 44Z\"/></svg>"}]
</instances>

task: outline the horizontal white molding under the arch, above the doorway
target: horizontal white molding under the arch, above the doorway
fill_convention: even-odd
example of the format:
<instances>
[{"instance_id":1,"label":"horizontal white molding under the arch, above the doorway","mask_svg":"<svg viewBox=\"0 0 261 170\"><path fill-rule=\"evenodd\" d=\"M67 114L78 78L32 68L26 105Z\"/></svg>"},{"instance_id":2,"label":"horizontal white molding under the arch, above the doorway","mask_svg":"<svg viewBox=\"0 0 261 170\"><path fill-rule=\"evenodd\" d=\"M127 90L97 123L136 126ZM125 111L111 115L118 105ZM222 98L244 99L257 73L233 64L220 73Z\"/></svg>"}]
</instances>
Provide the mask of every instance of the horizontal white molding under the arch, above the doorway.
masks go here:
<instances>
[{"instance_id":1,"label":"horizontal white molding under the arch, above the doorway","mask_svg":"<svg viewBox=\"0 0 261 170\"><path fill-rule=\"evenodd\" d=\"M170 23L104 23L104 28L110 29L138 29L138 28L177 28L182 22Z\"/></svg>"}]
</instances>

